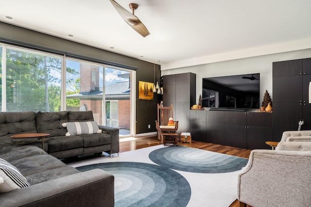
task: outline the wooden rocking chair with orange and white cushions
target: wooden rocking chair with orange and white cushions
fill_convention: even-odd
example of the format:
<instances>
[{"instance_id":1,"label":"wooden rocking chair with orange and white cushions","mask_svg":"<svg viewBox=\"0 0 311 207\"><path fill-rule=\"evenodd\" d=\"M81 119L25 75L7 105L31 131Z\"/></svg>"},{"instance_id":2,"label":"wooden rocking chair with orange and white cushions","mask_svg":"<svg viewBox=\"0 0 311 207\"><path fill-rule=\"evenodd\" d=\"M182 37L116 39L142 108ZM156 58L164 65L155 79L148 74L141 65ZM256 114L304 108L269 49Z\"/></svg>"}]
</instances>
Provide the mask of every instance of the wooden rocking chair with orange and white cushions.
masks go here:
<instances>
[{"instance_id":1,"label":"wooden rocking chair with orange and white cushions","mask_svg":"<svg viewBox=\"0 0 311 207\"><path fill-rule=\"evenodd\" d=\"M155 127L157 129L157 138L161 140L164 145L167 143L176 145L177 143L178 134L176 131L178 130L178 121L174 121L175 126L168 126L170 118L174 118L173 104L169 107L157 104L157 120L155 121Z\"/></svg>"}]
</instances>

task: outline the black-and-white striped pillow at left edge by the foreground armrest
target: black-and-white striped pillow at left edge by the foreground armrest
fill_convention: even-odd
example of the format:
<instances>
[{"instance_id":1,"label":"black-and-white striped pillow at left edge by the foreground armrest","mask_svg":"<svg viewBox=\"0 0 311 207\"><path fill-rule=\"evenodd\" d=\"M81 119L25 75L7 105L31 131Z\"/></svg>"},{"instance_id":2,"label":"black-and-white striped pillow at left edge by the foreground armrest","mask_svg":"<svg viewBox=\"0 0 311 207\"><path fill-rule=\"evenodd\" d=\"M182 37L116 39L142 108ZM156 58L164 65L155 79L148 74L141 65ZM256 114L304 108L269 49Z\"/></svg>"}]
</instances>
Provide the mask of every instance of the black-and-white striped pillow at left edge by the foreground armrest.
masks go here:
<instances>
[{"instance_id":1,"label":"black-and-white striped pillow at left edge by the foreground armrest","mask_svg":"<svg viewBox=\"0 0 311 207\"><path fill-rule=\"evenodd\" d=\"M30 186L16 167L0 159L0 192L9 192Z\"/></svg>"}]
</instances>

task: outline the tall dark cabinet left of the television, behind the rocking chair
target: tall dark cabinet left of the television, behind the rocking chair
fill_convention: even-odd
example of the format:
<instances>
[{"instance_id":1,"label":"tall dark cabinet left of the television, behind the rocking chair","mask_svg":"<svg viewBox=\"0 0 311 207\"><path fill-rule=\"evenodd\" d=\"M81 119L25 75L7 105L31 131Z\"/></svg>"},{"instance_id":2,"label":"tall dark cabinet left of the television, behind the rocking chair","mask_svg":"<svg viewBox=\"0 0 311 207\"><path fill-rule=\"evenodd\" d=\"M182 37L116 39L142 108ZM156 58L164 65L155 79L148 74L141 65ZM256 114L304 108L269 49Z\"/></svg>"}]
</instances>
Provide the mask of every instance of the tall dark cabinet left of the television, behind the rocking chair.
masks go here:
<instances>
[{"instance_id":1,"label":"tall dark cabinet left of the television, behind the rocking chair","mask_svg":"<svg viewBox=\"0 0 311 207\"><path fill-rule=\"evenodd\" d=\"M173 104L178 133L190 130L190 107L195 104L196 75L181 73L163 76L163 106Z\"/></svg>"}]
</instances>

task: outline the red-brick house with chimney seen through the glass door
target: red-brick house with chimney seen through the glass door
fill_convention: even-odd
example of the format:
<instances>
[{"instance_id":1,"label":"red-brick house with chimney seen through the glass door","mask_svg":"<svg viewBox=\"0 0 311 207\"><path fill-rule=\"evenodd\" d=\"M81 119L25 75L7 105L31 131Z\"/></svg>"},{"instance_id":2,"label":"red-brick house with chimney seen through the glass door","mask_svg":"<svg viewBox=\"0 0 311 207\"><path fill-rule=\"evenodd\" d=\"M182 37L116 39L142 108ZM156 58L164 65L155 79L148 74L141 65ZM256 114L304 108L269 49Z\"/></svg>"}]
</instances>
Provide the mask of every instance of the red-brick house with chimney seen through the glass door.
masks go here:
<instances>
[{"instance_id":1,"label":"red-brick house with chimney seen through the glass door","mask_svg":"<svg viewBox=\"0 0 311 207\"><path fill-rule=\"evenodd\" d=\"M99 80L99 66L80 62L80 93L68 95L67 98L79 98L80 110L93 111L94 120L99 125L103 125L103 91L100 88ZM113 84L106 86L105 96L106 101L118 101L118 127L124 129L131 129L131 95L132 95L132 73L123 74L123 78L128 78L129 81L122 82L113 88ZM127 85L126 85L127 84ZM124 86L127 86L124 88ZM107 90L112 88L112 90ZM121 91L123 89L123 91ZM103 90L103 89L102 89ZM129 91L129 93L128 93ZM120 93L120 97L118 97Z\"/></svg>"}]
</instances>

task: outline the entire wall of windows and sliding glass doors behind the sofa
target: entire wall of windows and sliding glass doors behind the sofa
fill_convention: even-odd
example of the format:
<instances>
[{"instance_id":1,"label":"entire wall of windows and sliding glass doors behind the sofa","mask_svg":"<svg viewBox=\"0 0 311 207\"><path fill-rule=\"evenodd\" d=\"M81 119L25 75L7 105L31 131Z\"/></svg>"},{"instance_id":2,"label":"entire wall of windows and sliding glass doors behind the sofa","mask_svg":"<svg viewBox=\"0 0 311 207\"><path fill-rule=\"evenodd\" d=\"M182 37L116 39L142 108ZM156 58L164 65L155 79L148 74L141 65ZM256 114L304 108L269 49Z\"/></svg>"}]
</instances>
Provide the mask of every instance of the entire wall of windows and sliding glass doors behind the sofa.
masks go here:
<instances>
[{"instance_id":1,"label":"entire wall of windows and sliding glass doors behind the sofa","mask_svg":"<svg viewBox=\"0 0 311 207\"><path fill-rule=\"evenodd\" d=\"M66 68L66 69L65 69ZM0 46L0 111L93 111L99 125L133 132L134 71Z\"/></svg>"}]
</instances>

